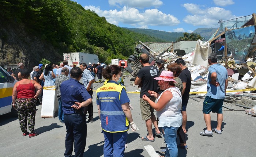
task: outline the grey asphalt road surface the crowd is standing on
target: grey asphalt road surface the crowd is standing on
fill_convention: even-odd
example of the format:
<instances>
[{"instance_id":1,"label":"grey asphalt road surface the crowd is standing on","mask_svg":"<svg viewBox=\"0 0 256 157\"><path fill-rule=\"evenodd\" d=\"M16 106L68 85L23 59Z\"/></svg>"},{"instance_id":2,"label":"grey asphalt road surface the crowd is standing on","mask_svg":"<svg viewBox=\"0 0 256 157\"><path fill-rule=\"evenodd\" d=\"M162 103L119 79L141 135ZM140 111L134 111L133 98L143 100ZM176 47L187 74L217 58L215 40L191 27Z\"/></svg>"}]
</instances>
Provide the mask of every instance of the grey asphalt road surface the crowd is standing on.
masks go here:
<instances>
[{"instance_id":1,"label":"grey asphalt road surface the crowd is standing on","mask_svg":"<svg viewBox=\"0 0 256 157\"><path fill-rule=\"evenodd\" d=\"M129 77L124 79L127 91L134 91ZM99 83L95 83L94 87ZM101 87L102 84L98 85ZM94 92L95 94L95 92ZM147 135L145 122L141 118L139 107L139 94L128 93L134 108L132 116L139 130L128 131L126 157L157 157L163 155L159 151L165 148L163 137L156 137L155 142L145 142L141 137ZM224 103L234 111L223 108L224 120L222 134L213 133L212 137L199 135L206 129L203 119L203 99L195 98L200 102L189 99L187 107L187 145L188 149L178 149L179 157L247 157L255 156L256 117L245 114L244 108ZM87 123L87 143L84 157L103 156L104 138L99 126L99 117L95 97L94 123ZM41 105L37 106L35 118L35 132L38 136L22 137L18 118L10 115L0 116L0 156L1 157L57 157L64 156L65 152L65 125L55 118L41 118ZM155 113L156 115L156 113ZM217 126L216 114L211 114L212 127ZM153 127L154 128L154 127ZM153 129L153 133L155 130ZM178 141L178 140L177 140ZM74 152L73 152L74 154Z\"/></svg>"}]
</instances>

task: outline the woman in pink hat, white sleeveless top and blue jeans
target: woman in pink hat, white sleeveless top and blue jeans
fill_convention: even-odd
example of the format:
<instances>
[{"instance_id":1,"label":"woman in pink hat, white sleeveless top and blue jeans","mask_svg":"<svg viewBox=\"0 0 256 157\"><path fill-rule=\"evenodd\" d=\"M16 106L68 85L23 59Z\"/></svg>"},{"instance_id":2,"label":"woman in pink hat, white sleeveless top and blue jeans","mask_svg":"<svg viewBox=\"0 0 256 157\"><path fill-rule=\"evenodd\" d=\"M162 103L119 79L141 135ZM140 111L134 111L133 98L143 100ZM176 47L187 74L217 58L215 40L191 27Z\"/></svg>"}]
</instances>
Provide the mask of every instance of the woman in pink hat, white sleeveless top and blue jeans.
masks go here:
<instances>
[{"instance_id":1,"label":"woman in pink hat, white sleeveless top and blue jeans","mask_svg":"<svg viewBox=\"0 0 256 157\"><path fill-rule=\"evenodd\" d=\"M159 77L154 79L159 80L160 89L165 91L161 95L154 91L148 91L151 96L157 98L157 103L151 101L146 95L142 98L157 110L158 127L162 127L166 142L166 157L177 157L177 130L182 124L181 92L180 89L174 86L176 81L170 71L163 71Z\"/></svg>"}]
</instances>

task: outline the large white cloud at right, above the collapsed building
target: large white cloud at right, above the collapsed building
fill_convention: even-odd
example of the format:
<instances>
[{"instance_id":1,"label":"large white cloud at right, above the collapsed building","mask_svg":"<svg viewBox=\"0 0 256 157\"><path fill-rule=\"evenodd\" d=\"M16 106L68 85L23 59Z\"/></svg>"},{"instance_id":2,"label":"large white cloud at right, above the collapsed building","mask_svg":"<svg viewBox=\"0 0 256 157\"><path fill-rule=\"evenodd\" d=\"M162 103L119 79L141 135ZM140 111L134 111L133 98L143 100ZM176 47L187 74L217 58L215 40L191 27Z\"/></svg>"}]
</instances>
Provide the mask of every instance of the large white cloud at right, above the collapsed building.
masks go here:
<instances>
[{"instance_id":1,"label":"large white cloud at right, above the collapsed building","mask_svg":"<svg viewBox=\"0 0 256 157\"><path fill-rule=\"evenodd\" d=\"M193 24L194 26L212 27L218 24L220 19L229 20L237 18L232 15L231 11L219 7L204 8L204 6L196 4L183 4L192 15L187 15L183 19L184 22Z\"/></svg>"}]
</instances>

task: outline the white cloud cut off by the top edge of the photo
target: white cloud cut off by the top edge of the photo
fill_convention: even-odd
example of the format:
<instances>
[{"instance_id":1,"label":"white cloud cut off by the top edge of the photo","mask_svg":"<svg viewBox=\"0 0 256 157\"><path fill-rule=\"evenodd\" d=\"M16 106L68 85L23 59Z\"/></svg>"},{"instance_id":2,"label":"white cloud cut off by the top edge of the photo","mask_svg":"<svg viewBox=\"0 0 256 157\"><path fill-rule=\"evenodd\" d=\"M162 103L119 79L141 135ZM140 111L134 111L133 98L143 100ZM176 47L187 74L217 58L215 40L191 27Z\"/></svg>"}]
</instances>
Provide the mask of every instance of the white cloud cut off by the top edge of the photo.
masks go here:
<instances>
[{"instance_id":1,"label":"white cloud cut off by the top edge of the photo","mask_svg":"<svg viewBox=\"0 0 256 157\"><path fill-rule=\"evenodd\" d=\"M134 8L159 7L163 4L161 0L109 0L113 6L129 6Z\"/></svg>"}]
</instances>

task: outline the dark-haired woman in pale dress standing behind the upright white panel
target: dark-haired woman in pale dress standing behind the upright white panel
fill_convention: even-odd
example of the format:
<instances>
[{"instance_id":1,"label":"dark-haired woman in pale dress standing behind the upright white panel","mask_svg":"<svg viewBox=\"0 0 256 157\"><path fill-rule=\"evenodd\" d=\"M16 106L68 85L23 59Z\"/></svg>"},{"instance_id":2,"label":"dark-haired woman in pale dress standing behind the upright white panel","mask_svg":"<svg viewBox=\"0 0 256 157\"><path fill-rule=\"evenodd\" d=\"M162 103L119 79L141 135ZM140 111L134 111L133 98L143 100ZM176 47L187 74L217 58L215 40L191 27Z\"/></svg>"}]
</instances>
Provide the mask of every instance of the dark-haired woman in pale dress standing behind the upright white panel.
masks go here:
<instances>
[{"instance_id":1,"label":"dark-haired woman in pale dress standing behind the upright white panel","mask_svg":"<svg viewBox=\"0 0 256 157\"><path fill-rule=\"evenodd\" d=\"M43 72L41 74L41 76L39 77L40 80L45 81L44 86L55 86L54 81L52 80L52 78L55 78L55 74L52 71L52 66L50 66L49 64L45 66L45 72Z\"/></svg>"}]
</instances>

